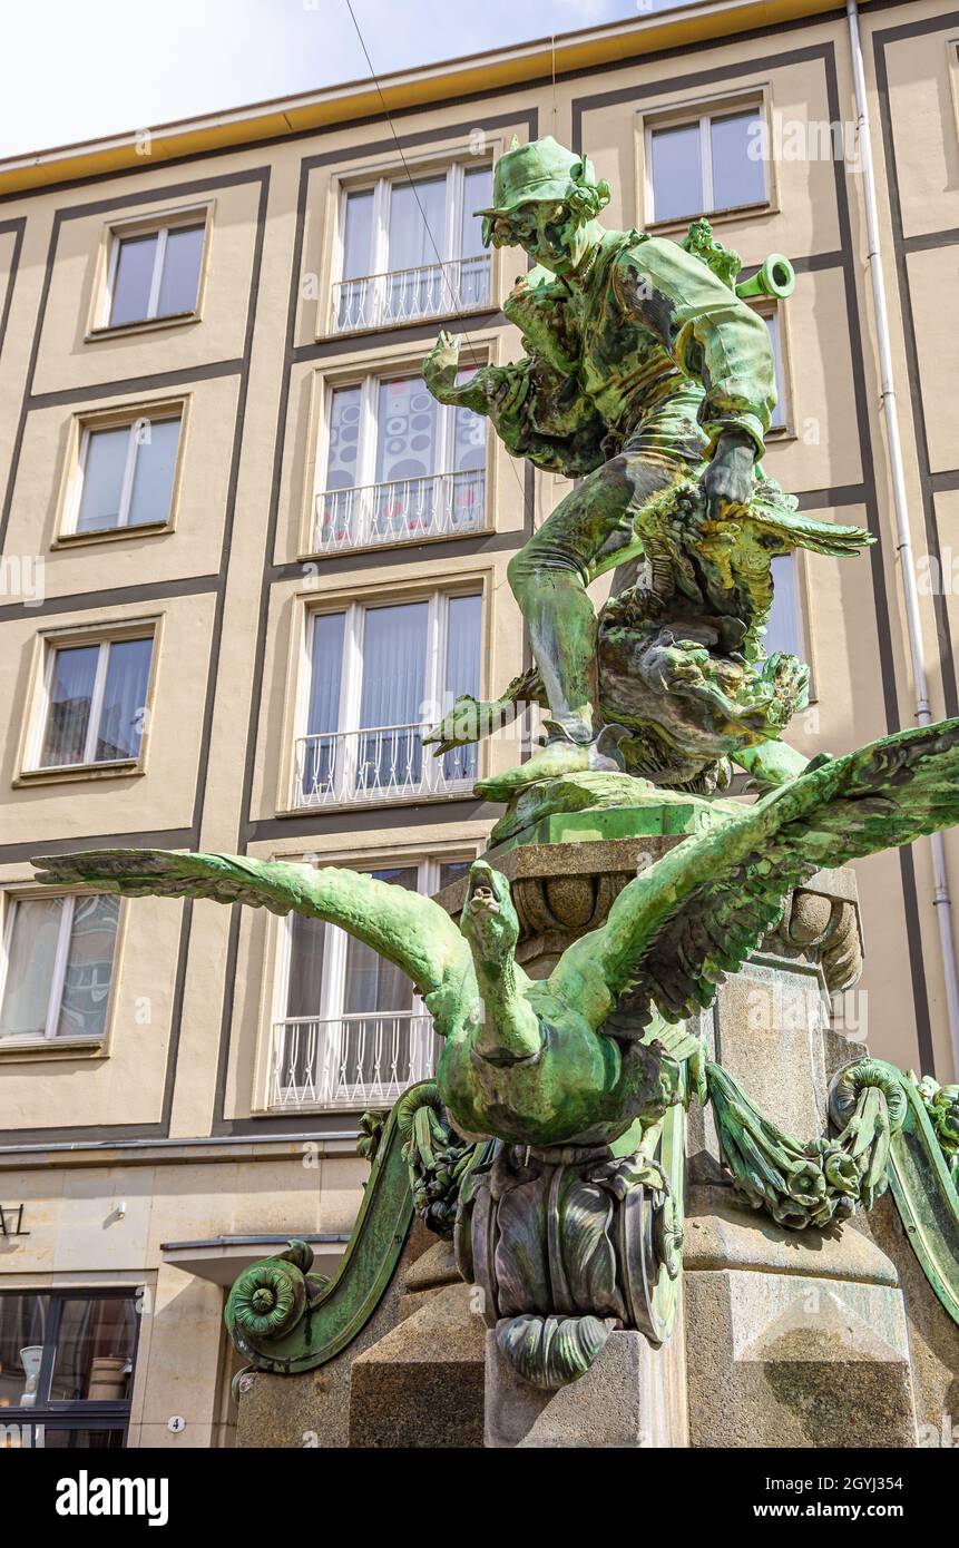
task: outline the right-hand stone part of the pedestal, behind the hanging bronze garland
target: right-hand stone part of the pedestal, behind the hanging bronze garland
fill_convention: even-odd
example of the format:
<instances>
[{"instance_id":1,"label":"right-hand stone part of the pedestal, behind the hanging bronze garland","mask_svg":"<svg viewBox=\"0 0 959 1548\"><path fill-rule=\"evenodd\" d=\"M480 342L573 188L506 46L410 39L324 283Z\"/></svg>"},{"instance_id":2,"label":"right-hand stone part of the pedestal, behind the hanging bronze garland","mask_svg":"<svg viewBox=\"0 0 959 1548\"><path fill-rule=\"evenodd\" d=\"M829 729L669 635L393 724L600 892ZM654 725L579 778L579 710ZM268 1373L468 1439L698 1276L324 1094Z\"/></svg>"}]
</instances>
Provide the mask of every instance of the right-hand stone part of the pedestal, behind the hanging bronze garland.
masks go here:
<instances>
[{"instance_id":1,"label":"right-hand stone part of the pedestal, behind the hanging bronze garland","mask_svg":"<svg viewBox=\"0 0 959 1548\"><path fill-rule=\"evenodd\" d=\"M799 1139L827 1132L832 1074L863 1053L829 1029L858 972L855 889L821 872L702 1019L711 1056ZM914 1446L899 1272L869 1217L785 1231L725 1178L711 1113L691 1110L686 1367L691 1446Z\"/></svg>"}]
</instances>

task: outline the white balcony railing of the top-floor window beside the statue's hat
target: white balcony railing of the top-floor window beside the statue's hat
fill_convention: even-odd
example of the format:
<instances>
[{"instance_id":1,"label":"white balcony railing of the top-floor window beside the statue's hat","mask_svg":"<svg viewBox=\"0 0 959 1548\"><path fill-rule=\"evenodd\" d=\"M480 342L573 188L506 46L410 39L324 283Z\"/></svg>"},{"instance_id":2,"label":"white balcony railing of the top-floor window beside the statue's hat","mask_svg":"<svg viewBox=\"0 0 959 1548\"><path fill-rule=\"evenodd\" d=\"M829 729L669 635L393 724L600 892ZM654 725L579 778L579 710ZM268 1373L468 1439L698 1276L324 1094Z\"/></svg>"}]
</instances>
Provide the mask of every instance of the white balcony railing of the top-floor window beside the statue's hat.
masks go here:
<instances>
[{"instance_id":1,"label":"white balcony railing of the top-floor window beside the statue's hat","mask_svg":"<svg viewBox=\"0 0 959 1548\"><path fill-rule=\"evenodd\" d=\"M384 328L423 317L449 317L490 305L490 254L366 274L333 286L336 333Z\"/></svg>"}]
</instances>

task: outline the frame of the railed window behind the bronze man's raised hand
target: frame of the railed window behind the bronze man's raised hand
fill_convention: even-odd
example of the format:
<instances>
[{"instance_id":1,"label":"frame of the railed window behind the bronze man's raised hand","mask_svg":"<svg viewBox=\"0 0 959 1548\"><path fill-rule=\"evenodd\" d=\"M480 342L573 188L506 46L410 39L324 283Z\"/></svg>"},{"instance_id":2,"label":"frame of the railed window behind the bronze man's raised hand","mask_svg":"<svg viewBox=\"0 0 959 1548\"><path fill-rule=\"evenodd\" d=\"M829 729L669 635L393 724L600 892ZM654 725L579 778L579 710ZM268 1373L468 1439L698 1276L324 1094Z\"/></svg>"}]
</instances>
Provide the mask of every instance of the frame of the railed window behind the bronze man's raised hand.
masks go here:
<instances>
[{"instance_id":1,"label":"frame of the railed window behind the bronze man's raised hand","mask_svg":"<svg viewBox=\"0 0 959 1548\"><path fill-rule=\"evenodd\" d=\"M497 353L497 351L496 351ZM488 362L493 362L493 348L483 353L471 351L466 359L460 361L460 370L480 370ZM494 531L493 509L494 509L494 472L496 472L496 437L490 435L485 429L485 444L483 444L483 520L469 533L411 533L409 537L397 537L392 542L376 543L364 542L356 545L344 545L342 548L322 548L318 543L318 517L316 508L319 497L327 494L327 478L330 464L330 426L333 415L333 398L341 389L358 387L359 389L359 438L358 438L358 457L356 457L356 483L353 488L367 489L378 488L373 474L376 467L376 449L380 441L380 423L378 423L378 395L380 384L383 381L397 381L403 378L421 379L421 358L409 361L401 358L398 361L390 361L387 365L380 365L376 368L358 368L353 372L324 375L318 372L313 379L311 406L310 406L310 423L313 426L313 455L308 458L308 475L305 480L305 500L302 512L302 529L301 529L301 559L328 559L342 557L344 554L364 554L364 553L392 553L397 548L406 548L411 543L417 546L421 543L445 543L445 542L462 542L463 539L479 539L488 536ZM443 452L443 463L437 474L429 477L452 477L452 454L455 449L455 406L437 402L437 450ZM482 420L480 415L477 418ZM483 421L485 426L485 421ZM389 480L387 480L389 481Z\"/></svg>"}]
</instances>

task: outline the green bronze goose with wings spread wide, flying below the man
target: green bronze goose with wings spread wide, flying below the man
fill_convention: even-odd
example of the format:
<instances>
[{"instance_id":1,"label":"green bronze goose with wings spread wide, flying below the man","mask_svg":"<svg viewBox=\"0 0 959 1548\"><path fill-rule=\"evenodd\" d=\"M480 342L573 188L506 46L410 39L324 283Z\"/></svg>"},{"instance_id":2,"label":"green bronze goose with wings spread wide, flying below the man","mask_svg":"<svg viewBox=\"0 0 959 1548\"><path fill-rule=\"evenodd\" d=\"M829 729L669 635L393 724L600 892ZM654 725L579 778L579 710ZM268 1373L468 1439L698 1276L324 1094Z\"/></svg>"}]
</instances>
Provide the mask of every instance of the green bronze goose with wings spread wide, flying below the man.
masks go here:
<instances>
[{"instance_id":1,"label":"green bronze goose with wings spread wide, flying below the man","mask_svg":"<svg viewBox=\"0 0 959 1548\"><path fill-rule=\"evenodd\" d=\"M658 808L663 793L646 783L644 799ZM39 879L339 924L423 995L443 1039L437 1085L463 1138L609 1146L705 1090L683 1022L778 923L790 889L959 819L959 721L813 760L753 805L699 800L710 825L637 875L542 981L516 961L510 885L485 859L471 865L459 927L432 898L285 861L95 850L39 861Z\"/></svg>"}]
</instances>

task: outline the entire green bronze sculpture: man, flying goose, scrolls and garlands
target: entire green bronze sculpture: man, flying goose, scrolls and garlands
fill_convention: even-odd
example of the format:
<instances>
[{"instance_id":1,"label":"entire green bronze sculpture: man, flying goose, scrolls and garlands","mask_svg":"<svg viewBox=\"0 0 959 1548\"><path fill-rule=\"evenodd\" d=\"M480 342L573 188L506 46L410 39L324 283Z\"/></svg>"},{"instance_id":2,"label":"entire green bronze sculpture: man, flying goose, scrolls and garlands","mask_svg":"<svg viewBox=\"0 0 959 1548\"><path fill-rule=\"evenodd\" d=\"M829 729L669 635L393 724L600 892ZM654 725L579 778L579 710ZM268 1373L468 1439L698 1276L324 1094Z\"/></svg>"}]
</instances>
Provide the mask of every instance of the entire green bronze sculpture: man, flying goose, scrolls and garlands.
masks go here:
<instances>
[{"instance_id":1,"label":"entire green bronze sculpture: man, flying goose, scrolls and garlands","mask_svg":"<svg viewBox=\"0 0 959 1548\"><path fill-rule=\"evenodd\" d=\"M514 455L578 483L510 563L533 669L493 703L457 701L431 740L442 755L496 729L516 701L538 701L545 743L477 785L508 802L493 842L522 845L552 814L612 810L629 839L662 833L674 845L607 898L598 927L548 957L544 978L517 961L497 851L471 865L459 923L359 872L245 856L46 856L39 879L332 921L401 968L434 1019L435 1082L361 1124L372 1172L338 1274L311 1274L294 1241L231 1291L231 1334L263 1368L311 1368L356 1336L414 1206L454 1237L522 1379L575 1381L614 1327L662 1342L677 1305L694 1098L713 1107L742 1200L779 1226L837 1224L891 1181L959 1320L957 1088L860 1057L832 1082L834 1132L796 1138L706 1059L696 1022L776 929L792 889L959 822L959 720L810 763L782 741L807 669L765 655L772 562L871 540L804 515L758 466L773 362L742 293L785 296L789 263L773 257L737 285L737 255L705 221L682 245L606 231L596 217L609 189L548 138L500 158L494 200L486 238L536 263L505 303L527 354L457 382L443 334L425 376L442 401L488 415ZM596 618L587 588L614 567ZM717 794L733 763L758 799Z\"/></svg>"}]
</instances>

